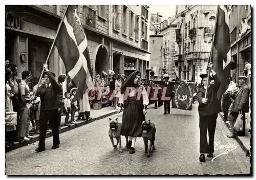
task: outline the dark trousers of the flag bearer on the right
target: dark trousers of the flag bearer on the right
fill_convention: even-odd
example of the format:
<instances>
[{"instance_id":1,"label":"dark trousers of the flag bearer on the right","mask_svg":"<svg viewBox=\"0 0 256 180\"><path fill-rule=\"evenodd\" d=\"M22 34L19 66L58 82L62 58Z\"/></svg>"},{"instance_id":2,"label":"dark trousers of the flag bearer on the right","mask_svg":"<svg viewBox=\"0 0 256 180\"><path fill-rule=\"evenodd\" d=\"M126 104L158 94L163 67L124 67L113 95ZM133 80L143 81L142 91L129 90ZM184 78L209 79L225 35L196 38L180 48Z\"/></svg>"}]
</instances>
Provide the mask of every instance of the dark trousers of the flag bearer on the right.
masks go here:
<instances>
[{"instance_id":1,"label":"dark trousers of the flag bearer on the right","mask_svg":"<svg viewBox=\"0 0 256 180\"><path fill-rule=\"evenodd\" d=\"M214 153L214 134L216 128L216 120L218 114L199 117L200 128L200 154ZM209 144L207 143L207 129L209 136Z\"/></svg>"}]
</instances>

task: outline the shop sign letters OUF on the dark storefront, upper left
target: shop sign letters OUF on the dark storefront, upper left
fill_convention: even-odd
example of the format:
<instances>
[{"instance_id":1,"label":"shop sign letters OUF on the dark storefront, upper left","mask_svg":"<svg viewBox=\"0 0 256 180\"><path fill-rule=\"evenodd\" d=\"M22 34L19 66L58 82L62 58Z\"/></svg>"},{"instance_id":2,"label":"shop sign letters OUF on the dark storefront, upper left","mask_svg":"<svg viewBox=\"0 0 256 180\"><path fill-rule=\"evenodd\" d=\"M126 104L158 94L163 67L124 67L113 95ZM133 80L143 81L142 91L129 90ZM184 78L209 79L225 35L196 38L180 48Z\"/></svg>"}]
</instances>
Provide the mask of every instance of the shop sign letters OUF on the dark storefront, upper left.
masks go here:
<instances>
[{"instance_id":1,"label":"shop sign letters OUF on the dark storefront, upper left","mask_svg":"<svg viewBox=\"0 0 256 180\"><path fill-rule=\"evenodd\" d=\"M22 29L23 27L23 19L25 17L13 14L12 12L7 12L5 14L5 22L6 26L10 28L15 28L15 29Z\"/></svg>"}]
</instances>

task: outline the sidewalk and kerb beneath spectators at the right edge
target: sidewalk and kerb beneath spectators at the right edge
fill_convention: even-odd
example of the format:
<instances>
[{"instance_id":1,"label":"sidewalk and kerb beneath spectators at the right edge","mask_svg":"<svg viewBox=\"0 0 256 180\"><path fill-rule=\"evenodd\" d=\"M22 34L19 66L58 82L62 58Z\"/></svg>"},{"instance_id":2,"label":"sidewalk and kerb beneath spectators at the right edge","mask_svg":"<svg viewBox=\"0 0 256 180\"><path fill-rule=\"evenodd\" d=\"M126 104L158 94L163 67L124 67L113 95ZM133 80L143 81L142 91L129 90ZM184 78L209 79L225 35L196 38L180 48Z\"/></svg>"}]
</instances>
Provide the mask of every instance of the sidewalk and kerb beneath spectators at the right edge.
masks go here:
<instances>
[{"instance_id":1,"label":"sidewalk and kerb beneath spectators at the right edge","mask_svg":"<svg viewBox=\"0 0 256 180\"><path fill-rule=\"evenodd\" d=\"M218 118L220 119L220 121L224 124L224 126L226 126L229 131L231 132L231 127L230 127L230 123L225 124L225 122L223 121L223 113L219 113ZM251 139L251 133L248 132L248 130L250 129L250 111L249 113L245 114L245 136L236 136L236 140L239 143L239 145L242 147L242 149L244 150L245 154L247 156L250 156L250 139ZM227 134L228 135L228 134Z\"/></svg>"}]
</instances>

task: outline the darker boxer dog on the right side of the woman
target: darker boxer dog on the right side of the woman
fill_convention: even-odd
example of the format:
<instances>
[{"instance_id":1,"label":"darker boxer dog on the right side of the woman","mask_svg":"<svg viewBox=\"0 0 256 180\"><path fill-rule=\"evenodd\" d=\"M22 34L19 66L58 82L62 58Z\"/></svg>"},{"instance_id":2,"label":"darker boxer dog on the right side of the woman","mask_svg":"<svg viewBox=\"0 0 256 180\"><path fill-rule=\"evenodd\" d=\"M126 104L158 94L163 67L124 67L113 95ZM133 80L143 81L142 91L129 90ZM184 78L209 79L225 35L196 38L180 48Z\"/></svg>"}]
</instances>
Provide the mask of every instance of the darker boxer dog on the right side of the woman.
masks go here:
<instances>
[{"instance_id":1,"label":"darker boxer dog on the right side of the woman","mask_svg":"<svg viewBox=\"0 0 256 180\"><path fill-rule=\"evenodd\" d=\"M151 148L155 149L155 139L156 139L156 127L154 123L151 123L150 120L145 120L142 122L142 138L145 146L145 153L147 153L147 158L151 156ZM147 146L147 142L150 140L150 147Z\"/></svg>"}]
</instances>

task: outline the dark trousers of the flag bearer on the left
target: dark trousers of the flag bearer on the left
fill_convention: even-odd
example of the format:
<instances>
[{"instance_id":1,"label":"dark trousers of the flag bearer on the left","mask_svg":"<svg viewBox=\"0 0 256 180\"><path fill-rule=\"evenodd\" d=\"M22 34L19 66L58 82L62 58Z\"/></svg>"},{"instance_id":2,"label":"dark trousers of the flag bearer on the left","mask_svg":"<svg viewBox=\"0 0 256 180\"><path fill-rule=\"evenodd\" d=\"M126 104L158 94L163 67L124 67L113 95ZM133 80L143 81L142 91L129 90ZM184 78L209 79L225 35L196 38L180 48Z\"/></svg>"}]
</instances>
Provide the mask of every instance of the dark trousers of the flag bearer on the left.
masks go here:
<instances>
[{"instance_id":1,"label":"dark trousers of the flag bearer on the left","mask_svg":"<svg viewBox=\"0 0 256 180\"><path fill-rule=\"evenodd\" d=\"M59 145L58 109L40 110L39 148L45 148L47 121L49 121L52 128L53 145Z\"/></svg>"}]
</instances>

